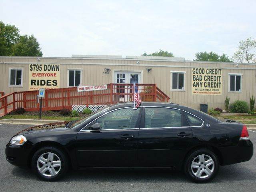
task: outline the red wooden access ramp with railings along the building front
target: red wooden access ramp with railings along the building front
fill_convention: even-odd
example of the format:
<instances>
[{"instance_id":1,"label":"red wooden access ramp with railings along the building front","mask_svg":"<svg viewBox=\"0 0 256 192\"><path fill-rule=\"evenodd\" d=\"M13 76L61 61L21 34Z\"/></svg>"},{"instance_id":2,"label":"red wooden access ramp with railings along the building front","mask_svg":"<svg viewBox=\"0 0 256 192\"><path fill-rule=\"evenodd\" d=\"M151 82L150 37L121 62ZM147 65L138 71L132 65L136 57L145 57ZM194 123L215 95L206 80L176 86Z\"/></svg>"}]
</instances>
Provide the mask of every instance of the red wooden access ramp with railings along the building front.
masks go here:
<instances>
[{"instance_id":1,"label":"red wooden access ramp with railings along the building front","mask_svg":"<svg viewBox=\"0 0 256 192\"><path fill-rule=\"evenodd\" d=\"M156 84L136 84L142 101L168 102L169 97ZM0 92L1 93L1 92ZM3 114L19 107L38 111L38 91L13 92L0 97ZM42 110L71 109L72 105L102 105L133 101L133 84L108 84L106 90L78 92L77 87L45 90Z\"/></svg>"}]
</instances>

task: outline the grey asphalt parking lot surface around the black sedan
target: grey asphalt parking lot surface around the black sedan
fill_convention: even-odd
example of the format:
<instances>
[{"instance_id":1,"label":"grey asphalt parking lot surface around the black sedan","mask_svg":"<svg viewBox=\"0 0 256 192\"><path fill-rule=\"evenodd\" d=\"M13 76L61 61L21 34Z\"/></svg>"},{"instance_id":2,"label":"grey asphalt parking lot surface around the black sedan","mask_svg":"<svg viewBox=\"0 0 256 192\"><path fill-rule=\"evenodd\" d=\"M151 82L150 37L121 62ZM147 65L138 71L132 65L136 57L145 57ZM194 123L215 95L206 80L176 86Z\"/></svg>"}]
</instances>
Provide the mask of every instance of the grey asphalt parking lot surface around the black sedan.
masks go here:
<instances>
[{"instance_id":1,"label":"grey asphalt parking lot surface around the black sedan","mask_svg":"<svg viewBox=\"0 0 256 192\"><path fill-rule=\"evenodd\" d=\"M169 171L90 171L68 174L58 182L43 182L31 170L12 166L6 161L5 145L16 132L29 125L0 125L1 191L255 191L256 130L249 131L254 156L249 162L221 166L208 184L190 182L182 172ZM255 132L254 132L255 131Z\"/></svg>"}]
</instances>

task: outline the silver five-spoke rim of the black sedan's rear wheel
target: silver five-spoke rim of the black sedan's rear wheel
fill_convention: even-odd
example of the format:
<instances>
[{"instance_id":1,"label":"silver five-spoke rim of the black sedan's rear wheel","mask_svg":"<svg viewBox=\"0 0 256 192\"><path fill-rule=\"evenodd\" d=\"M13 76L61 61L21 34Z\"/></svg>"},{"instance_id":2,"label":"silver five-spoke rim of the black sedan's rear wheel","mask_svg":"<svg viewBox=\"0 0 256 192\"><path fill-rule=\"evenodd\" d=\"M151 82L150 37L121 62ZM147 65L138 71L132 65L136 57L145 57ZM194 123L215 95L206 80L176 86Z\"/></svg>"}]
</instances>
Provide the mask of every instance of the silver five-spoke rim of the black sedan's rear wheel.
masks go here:
<instances>
[{"instance_id":1,"label":"silver five-spoke rim of the black sedan's rear wheel","mask_svg":"<svg viewBox=\"0 0 256 192\"><path fill-rule=\"evenodd\" d=\"M214 171L214 160L208 155L198 155L191 164L192 173L198 178L207 178Z\"/></svg>"}]
</instances>

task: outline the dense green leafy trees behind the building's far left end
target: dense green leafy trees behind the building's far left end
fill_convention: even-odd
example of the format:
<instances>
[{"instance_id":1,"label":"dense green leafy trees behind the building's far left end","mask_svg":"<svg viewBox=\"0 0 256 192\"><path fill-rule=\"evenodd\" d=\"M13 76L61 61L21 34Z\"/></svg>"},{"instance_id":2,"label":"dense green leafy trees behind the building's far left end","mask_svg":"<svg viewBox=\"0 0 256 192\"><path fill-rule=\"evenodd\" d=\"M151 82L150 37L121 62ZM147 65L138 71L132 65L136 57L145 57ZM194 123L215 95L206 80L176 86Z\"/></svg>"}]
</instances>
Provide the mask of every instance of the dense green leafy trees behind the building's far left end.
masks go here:
<instances>
[{"instance_id":1,"label":"dense green leafy trees behind the building's far left end","mask_svg":"<svg viewBox=\"0 0 256 192\"><path fill-rule=\"evenodd\" d=\"M0 21L0 56L43 56L36 38Z\"/></svg>"}]
</instances>

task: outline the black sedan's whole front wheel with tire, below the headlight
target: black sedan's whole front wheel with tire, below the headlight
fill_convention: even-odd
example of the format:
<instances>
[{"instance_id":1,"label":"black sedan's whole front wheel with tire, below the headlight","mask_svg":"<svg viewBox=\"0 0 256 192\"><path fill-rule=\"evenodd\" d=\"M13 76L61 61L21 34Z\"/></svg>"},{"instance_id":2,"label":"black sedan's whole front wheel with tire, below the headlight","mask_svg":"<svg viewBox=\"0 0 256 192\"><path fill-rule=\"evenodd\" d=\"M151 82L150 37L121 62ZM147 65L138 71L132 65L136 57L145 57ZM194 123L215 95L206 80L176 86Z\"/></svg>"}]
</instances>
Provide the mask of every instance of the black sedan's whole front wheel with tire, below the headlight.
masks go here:
<instances>
[{"instance_id":1,"label":"black sedan's whole front wheel with tire, below the headlight","mask_svg":"<svg viewBox=\"0 0 256 192\"><path fill-rule=\"evenodd\" d=\"M62 150L47 146L37 150L32 157L32 170L44 181L56 181L68 170L68 159Z\"/></svg>"}]
</instances>

